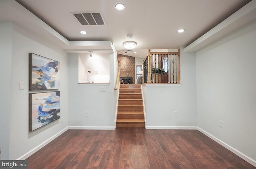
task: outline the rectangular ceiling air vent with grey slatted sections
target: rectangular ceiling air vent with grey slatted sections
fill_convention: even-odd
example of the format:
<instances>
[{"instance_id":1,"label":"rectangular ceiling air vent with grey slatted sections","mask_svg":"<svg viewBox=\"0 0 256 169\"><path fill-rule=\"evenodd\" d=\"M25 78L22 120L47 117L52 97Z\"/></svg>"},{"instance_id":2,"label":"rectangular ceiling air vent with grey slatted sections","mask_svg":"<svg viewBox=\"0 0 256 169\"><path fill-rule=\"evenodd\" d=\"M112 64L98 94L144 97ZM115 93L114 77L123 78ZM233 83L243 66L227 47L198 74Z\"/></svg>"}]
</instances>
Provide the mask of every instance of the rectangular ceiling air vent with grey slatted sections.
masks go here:
<instances>
[{"instance_id":1,"label":"rectangular ceiling air vent with grey slatted sections","mask_svg":"<svg viewBox=\"0 0 256 169\"><path fill-rule=\"evenodd\" d=\"M106 25L101 14L99 12L88 13L88 12L80 12L73 13L76 19L82 25Z\"/></svg>"}]
</instances>

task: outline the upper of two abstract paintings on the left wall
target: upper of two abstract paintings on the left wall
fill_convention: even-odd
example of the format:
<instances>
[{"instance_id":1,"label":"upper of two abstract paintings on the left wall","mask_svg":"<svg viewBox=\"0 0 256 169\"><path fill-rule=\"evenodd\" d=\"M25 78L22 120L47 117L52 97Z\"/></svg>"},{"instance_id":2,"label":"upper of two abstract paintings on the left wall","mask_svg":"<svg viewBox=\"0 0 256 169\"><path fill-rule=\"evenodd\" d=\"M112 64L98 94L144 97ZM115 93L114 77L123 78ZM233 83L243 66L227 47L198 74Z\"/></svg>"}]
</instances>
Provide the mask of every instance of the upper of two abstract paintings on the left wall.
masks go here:
<instances>
[{"instance_id":1,"label":"upper of two abstract paintings on the left wall","mask_svg":"<svg viewBox=\"0 0 256 169\"><path fill-rule=\"evenodd\" d=\"M29 90L60 89L60 62L29 53Z\"/></svg>"}]
</instances>

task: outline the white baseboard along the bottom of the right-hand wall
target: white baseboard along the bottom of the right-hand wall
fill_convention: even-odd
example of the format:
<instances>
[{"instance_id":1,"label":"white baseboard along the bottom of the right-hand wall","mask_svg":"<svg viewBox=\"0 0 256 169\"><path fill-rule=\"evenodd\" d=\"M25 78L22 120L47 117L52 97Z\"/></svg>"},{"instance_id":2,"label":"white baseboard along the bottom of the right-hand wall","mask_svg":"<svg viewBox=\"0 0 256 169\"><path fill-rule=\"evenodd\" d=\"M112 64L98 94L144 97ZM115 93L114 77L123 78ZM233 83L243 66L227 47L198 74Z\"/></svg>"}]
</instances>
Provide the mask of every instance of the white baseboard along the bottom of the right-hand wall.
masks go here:
<instances>
[{"instance_id":1,"label":"white baseboard along the bottom of the right-hand wall","mask_svg":"<svg viewBox=\"0 0 256 169\"><path fill-rule=\"evenodd\" d=\"M248 157L247 155L245 155L244 153L238 151L237 149L235 149L234 147L231 147L230 145L228 145L227 143L221 141L220 139L212 136L210 133L204 131L203 129L197 127L197 130L200 131L202 134L208 136L209 138L211 138L212 140L216 141L217 143L219 143L220 145L222 145L223 147L225 147L226 149L230 150L232 153L238 155L238 157L241 157L242 159L244 159L245 161L247 161L248 163L250 163L251 165L253 165L254 167L256 167L256 161L250 157Z\"/></svg>"}]
</instances>

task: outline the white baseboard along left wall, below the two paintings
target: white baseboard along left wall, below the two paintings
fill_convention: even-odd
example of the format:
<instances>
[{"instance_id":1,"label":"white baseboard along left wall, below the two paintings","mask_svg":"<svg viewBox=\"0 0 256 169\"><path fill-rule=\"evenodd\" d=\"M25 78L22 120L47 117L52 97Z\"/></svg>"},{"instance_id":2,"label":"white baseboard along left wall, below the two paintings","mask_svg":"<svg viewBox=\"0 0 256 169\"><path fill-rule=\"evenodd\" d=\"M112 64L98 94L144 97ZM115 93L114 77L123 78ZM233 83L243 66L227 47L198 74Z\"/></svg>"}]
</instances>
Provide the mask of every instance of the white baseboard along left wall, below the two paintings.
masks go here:
<instances>
[{"instance_id":1,"label":"white baseboard along left wall, below the two paintings","mask_svg":"<svg viewBox=\"0 0 256 169\"><path fill-rule=\"evenodd\" d=\"M21 157L19 157L17 160L24 160L26 158L28 158L30 155L34 154L36 151L38 151L39 149L41 149L42 147L44 147L46 144L50 143L52 140L56 139L58 136L60 136L61 134L63 134L64 132L66 132L68 130L68 127L64 128L63 130L61 130L60 132L58 132L57 134L55 134L54 136L50 137L49 139L47 139L46 141L42 142L41 144L39 144L38 146L34 147L33 149L31 149L30 151L28 151L26 154L22 155Z\"/></svg>"}]
</instances>

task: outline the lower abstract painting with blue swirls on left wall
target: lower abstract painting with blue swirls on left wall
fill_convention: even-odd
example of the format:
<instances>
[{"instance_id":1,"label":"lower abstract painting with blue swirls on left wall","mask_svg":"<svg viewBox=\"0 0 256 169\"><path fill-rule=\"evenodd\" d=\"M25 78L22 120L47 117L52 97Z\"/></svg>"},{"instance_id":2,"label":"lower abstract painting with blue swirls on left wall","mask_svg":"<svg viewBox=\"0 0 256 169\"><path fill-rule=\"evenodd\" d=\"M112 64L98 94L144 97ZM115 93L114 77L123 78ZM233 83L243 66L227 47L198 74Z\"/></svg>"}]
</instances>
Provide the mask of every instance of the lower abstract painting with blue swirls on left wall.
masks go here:
<instances>
[{"instance_id":1,"label":"lower abstract painting with blue swirls on left wall","mask_svg":"<svg viewBox=\"0 0 256 169\"><path fill-rule=\"evenodd\" d=\"M29 131L60 118L60 91L29 94Z\"/></svg>"}]
</instances>

